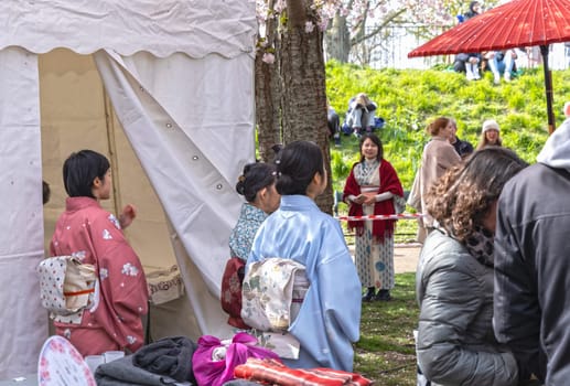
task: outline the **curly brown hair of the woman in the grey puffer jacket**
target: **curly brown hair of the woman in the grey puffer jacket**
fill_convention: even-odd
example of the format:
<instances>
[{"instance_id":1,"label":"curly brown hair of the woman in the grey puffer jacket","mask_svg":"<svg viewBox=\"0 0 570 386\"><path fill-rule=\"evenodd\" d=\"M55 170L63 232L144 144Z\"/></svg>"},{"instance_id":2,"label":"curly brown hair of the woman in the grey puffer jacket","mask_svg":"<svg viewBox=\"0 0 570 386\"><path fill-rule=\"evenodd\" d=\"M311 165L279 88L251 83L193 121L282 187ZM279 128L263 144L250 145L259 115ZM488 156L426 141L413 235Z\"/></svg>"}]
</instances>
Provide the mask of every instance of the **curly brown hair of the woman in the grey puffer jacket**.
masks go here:
<instances>
[{"instance_id":1,"label":"curly brown hair of the woman in the grey puffer jacket","mask_svg":"<svg viewBox=\"0 0 570 386\"><path fill-rule=\"evenodd\" d=\"M465 242L498 199L505 183L526 168L509 149L486 148L449 170L426 197L428 213Z\"/></svg>"}]
</instances>

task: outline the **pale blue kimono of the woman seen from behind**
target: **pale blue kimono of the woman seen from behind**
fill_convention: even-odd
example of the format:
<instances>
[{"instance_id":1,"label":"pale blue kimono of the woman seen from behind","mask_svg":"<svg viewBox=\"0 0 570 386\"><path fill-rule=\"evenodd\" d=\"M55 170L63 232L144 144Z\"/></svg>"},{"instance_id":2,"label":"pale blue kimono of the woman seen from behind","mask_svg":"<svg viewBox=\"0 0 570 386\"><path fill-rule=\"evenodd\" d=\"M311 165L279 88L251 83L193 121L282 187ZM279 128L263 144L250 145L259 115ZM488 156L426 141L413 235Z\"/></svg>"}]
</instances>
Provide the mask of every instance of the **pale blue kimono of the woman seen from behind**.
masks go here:
<instances>
[{"instance_id":1,"label":"pale blue kimono of the woman seen from behind","mask_svg":"<svg viewBox=\"0 0 570 386\"><path fill-rule=\"evenodd\" d=\"M289 328L301 344L299 360L284 364L352 372L352 342L359 337L361 281L338 222L308 196L283 195L279 210L261 224L247 264L268 257L301 262L311 283Z\"/></svg>"}]
</instances>

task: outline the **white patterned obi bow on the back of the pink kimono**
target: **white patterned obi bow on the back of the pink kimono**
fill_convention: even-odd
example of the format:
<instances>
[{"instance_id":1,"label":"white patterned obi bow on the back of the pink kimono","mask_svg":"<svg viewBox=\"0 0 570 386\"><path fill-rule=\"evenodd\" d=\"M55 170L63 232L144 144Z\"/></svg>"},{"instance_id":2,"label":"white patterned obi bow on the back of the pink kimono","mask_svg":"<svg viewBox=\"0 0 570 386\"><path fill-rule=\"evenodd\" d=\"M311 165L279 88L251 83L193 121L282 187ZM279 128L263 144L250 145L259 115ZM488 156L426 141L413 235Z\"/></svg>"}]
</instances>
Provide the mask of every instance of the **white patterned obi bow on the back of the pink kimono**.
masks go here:
<instances>
[{"instance_id":1,"label":"white patterned obi bow on the back of the pink kimono","mask_svg":"<svg viewBox=\"0 0 570 386\"><path fill-rule=\"evenodd\" d=\"M83 310L93 301L95 266L83 264L75 256L55 256L42 260L36 271L42 305L50 311L50 318L79 323Z\"/></svg>"}]
</instances>

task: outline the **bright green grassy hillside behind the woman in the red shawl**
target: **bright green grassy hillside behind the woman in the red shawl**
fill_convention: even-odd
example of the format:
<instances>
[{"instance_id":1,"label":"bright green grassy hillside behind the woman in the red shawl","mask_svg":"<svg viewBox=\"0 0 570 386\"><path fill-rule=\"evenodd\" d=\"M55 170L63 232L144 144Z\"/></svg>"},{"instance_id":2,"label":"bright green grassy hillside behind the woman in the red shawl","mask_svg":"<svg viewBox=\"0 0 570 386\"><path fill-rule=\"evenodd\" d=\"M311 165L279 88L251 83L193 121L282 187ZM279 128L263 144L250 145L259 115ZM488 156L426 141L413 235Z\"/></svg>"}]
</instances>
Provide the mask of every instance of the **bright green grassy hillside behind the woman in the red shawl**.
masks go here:
<instances>
[{"instance_id":1,"label":"bright green grassy hillside behind the woman in the red shawl","mask_svg":"<svg viewBox=\"0 0 570 386\"><path fill-rule=\"evenodd\" d=\"M563 120L562 107L570 100L570 72L552 72L556 122ZM442 69L372 69L355 65L326 64L326 88L331 105L341 115L348 99L364 92L378 105L377 116L386 120L380 132L385 158L396 168L409 190L429 139L427 124L438 116L458 121L459 137L473 146L485 119L496 119L503 144L528 162L548 137L542 68L526 69L512 83L493 85L490 72L478 82ZM342 190L353 162L358 158L354 137L342 137L342 147L331 144L334 189Z\"/></svg>"}]
</instances>

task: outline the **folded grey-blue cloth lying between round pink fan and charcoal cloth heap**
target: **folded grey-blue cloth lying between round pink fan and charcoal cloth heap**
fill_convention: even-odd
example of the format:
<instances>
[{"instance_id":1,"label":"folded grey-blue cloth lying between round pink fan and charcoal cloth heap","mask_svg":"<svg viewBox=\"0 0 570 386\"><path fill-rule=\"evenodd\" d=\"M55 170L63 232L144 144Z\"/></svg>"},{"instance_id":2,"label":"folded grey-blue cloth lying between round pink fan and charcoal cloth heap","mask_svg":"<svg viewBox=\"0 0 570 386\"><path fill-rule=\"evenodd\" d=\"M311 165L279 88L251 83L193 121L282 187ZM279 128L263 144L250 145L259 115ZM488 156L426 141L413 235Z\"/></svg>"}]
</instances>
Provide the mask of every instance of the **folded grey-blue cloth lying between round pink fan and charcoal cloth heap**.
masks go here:
<instances>
[{"instance_id":1,"label":"folded grey-blue cloth lying between round pink fan and charcoal cloth heap","mask_svg":"<svg viewBox=\"0 0 570 386\"><path fill-rule=\"evenodd\" d=\"M133 355L125 356L120 360L112 361L97 367L95 372L95 382L97 386L164 386L180 385L175 379L152 374L143 368L132 364ZM185 383L185 385L192 385Z\"/></svg>"}]
</instances>

